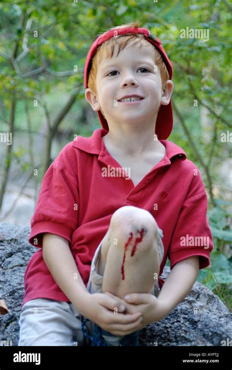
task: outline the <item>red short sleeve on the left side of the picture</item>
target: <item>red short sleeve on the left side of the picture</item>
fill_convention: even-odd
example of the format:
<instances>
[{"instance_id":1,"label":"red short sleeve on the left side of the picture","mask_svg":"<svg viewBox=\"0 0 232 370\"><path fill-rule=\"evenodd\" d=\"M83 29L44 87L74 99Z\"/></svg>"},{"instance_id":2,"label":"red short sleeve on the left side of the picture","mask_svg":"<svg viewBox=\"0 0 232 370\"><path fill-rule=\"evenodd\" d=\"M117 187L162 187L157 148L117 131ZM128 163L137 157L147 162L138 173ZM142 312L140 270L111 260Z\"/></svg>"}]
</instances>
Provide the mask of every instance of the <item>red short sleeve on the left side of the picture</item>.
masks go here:
<instances>
[{"instance_id":1,"label":"red short sleeve on the left side of the picture","mask_svg":"<svg viewBox=\"0 0 232 370\"><path fill-rule=\"evenodd\" d=\"M78 180L70 150L67 144L44 175L28 239L35 247L42 248L43 233L56 234L71 242L78 226Z\"/></svg>"}]
</instances>

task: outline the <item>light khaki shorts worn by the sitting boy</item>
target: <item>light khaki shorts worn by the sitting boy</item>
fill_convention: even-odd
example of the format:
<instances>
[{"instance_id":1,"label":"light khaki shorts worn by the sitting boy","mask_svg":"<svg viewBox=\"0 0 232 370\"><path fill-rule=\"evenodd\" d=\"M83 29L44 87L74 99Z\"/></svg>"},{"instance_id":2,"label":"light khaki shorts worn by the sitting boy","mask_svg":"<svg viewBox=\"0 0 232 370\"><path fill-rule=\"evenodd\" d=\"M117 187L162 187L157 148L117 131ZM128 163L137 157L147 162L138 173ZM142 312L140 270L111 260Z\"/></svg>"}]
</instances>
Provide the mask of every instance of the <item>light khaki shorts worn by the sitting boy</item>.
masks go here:
<instances>
[{"instance_id":1,"label":"light khaki shorts worn by the sitting boy","mask_svg":"<svg viewBox=\"0 0 232 370\"><path fill-rule=\"evenodd\" d=\"M162 230L159 229L158 251L160 261L163 258ZM98 262L102 241L99 243L91 264L91 273L87 285L88 291L101 293L103 276L98 274ZM158 281L151 291L158 297ZM91 341L84 336L81 324L86 318L81 315L71 302L36 298L26 302L20 314L20 338L18 346L90 346ZM85 324L86 333L93 332L92 321Z\"/></svg>"}]
</instances>

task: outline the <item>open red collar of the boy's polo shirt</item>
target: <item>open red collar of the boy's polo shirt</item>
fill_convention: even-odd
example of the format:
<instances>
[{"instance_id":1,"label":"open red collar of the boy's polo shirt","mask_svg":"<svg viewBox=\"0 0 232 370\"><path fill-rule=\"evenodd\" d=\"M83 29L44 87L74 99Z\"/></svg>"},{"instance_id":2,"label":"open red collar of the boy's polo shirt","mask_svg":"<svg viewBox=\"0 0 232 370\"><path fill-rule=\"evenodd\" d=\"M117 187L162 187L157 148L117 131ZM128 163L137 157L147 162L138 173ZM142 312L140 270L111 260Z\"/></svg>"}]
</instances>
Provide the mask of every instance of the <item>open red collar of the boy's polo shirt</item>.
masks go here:
<instances>
[{"instance_id":1,"label":"open red collar of the boy's polo shirt","mask_svg":"<svg viewBox=\"0 0 232 370\"><path fill-rule=\"evenodd\" d=\"M99 155L104 149L104 142L101 138L107 133L108 131L104 129L96 129L90 137L76 136L72 142L72 146L84 152ZM186 152L172 141L160 140L160 142L166 147L165 156L170 160L176 155L178 155L182 160L186 159Z\"/></svg>"}]
</instances>

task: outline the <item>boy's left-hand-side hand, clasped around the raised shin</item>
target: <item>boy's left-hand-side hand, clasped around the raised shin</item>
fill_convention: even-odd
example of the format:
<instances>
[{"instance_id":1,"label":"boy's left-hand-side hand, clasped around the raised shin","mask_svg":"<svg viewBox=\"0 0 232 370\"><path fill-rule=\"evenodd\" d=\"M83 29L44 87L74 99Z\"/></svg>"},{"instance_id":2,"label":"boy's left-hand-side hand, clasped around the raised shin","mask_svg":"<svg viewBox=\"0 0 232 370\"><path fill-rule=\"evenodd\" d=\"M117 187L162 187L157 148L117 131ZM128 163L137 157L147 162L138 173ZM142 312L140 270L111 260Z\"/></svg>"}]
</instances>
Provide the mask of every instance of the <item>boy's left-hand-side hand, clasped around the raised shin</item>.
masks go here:
<instances>
[{"instance_id":1,"label":"boy's left-hand-side hand, clasped around the raised shin","mask_svg":"<svg viewBox=\"0 0 232 370\"><path fill-rule=\"evenodd\" d=\"M114 335L127 335L141 328L141 313L120 313L120 298L105 293L93 293L86 297L86 317L102 329ZM117 310L116 310L117 309ZM116 313L117 312L117 313Z\"/></svg>"}]
</instances>

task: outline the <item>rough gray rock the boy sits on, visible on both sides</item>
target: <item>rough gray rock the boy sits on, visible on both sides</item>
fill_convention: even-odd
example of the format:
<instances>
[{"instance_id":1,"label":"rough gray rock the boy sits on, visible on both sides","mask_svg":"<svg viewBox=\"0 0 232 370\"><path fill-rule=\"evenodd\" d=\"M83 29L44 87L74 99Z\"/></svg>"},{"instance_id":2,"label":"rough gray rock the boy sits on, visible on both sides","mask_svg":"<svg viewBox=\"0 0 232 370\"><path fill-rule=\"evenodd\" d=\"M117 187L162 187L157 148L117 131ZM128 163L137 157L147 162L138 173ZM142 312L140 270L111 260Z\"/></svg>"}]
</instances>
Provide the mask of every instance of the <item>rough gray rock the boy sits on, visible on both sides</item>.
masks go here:
<instances>
[{"instance_id":1,"label":"rough gray rock the boy sits on, visible on both sides","mask_svg":"<svg viewBox=\"0 0 232 370\"><path fill-rule=\"evenodd\" d=\"M24 272L37 251L28 242L29 234L28 227L0 223L0 299L9 309L9 313L0 315L1 346L18 344ZM169 272L169 268L164 269L163 279ZM140 346L221 346L221 341L232 338L231 316L211 290L195 283L167 317L141 330Z\"/></svg>"}]
</instances>

